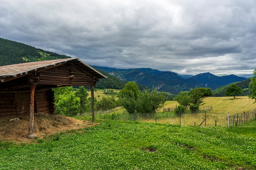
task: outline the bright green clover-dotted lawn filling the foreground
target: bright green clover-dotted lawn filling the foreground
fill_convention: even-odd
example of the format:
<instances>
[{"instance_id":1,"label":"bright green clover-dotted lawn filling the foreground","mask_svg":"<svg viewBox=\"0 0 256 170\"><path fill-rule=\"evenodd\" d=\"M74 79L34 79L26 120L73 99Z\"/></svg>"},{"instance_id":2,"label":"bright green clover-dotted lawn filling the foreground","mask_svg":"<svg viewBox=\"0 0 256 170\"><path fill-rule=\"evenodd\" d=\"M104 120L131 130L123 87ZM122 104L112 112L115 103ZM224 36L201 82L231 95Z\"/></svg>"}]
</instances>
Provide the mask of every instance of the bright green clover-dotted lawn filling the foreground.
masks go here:
<instances>
[{"instance_id":1,"label":"bright green clover-dotted lawn filling the foreground","mask_svg":"<svg viewBox=\"0 0 256 170\"><path fill-rule=\"evenodd\" d=\"M1 170L253 170L256 122L191 127L106 121L33 144L0 142Z\"/></svg>"}]
</instances>

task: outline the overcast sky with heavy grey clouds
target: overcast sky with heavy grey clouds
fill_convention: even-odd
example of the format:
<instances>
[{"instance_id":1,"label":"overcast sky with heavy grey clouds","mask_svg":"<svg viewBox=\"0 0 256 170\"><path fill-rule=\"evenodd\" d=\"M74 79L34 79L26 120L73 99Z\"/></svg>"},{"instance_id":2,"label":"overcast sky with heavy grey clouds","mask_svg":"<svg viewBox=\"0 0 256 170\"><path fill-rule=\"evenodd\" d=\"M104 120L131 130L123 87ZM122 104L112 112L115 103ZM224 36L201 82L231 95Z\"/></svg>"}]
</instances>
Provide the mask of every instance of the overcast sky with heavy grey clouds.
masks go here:
<instances>
[{"instance_id":1,"label":"overcast sky with heavy grey clouds","mask_svg":"<svg viewBox=\"0 0 256 170\"><path fill-rule=\"evenodd\" d=\"M0 0L0 37L91 66L251 74L255 0Z\"/></svg>"}]
</instances>

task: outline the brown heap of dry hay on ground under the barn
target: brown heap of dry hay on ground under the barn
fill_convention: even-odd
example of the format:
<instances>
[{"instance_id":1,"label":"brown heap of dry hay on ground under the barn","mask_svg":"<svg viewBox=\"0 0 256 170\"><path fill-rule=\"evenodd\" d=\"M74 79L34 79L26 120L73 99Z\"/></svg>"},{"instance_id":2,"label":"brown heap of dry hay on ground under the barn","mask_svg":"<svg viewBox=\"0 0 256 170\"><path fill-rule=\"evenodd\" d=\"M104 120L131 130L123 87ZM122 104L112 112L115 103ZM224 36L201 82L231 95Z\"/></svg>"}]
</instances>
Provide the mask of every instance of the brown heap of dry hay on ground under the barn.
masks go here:
<instances>
[{"instance_id":1,"label":"brown heap of dry hay on ground under the barn","mask_svg":"<svg viewBox=\"0 0 256 170\"><path fill-rule=\"evenodd\" d=\"M33 139L27 139L29 117L18 116L19 120L9 121L11 118L14 117L0 118L0 140L15 143L33 141ZM64 115L35 114L34 116L34 133L38 136L38 139L42 139L45 135L54 135L57 132L78 130L94 125L90 121L78 120Z\"/></svg>"}]
</instances>

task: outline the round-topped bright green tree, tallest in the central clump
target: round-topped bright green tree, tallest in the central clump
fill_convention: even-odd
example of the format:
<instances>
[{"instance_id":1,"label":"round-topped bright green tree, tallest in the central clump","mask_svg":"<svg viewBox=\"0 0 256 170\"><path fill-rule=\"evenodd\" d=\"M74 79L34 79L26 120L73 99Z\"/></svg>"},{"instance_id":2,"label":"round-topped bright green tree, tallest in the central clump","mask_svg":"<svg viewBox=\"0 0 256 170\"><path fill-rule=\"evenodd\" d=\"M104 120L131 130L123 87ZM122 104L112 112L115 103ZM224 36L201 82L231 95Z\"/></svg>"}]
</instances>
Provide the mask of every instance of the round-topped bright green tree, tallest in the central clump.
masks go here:
<instances>
[{"instance_id":1,"label":"round-topped bright green tree, tallest in the central clump","mask_svg":"<svg viewBox=\"0 0 256 170\"><path fill-rule=\"evenodd\" d=\"M134 82L128 82L124 88L118 93L119 97L134 97L136 100L139 96L139 86Z\"/></svg>"}]
</instances>

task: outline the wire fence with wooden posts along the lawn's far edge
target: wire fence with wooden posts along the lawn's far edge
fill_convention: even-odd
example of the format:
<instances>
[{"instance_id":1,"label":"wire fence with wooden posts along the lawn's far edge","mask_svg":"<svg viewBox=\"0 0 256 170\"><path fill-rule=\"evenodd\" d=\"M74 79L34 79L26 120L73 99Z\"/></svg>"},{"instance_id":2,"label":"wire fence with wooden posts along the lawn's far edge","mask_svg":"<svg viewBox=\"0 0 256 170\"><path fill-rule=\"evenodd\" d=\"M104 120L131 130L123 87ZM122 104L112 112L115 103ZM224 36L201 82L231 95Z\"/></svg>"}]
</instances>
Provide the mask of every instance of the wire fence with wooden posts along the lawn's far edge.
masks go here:
<instances>
[{"instance_id":1,"label":"wire fence with wooden posts along the lawn's far edge","mask_svg":"<svg viewBox=\"0 0 256 170\"><path fill-rule=\"evenodd\" d=\"M206 108L206 107L205 107ZM157 113L136 113L129 114L126 111L122 113L103 113L97 112L97 119L118 120L118 121L139 121L149 123L180 124L182 126L240 126L241 124L256 119L256 111L243 113L213 113L212 106L208 110L200 110L197 113L184 113L177 115L171 108L168 111ZM170 110L170 111L169 111Z\"/></svg>"}]
</instances>

